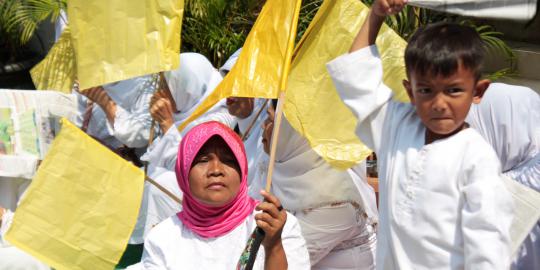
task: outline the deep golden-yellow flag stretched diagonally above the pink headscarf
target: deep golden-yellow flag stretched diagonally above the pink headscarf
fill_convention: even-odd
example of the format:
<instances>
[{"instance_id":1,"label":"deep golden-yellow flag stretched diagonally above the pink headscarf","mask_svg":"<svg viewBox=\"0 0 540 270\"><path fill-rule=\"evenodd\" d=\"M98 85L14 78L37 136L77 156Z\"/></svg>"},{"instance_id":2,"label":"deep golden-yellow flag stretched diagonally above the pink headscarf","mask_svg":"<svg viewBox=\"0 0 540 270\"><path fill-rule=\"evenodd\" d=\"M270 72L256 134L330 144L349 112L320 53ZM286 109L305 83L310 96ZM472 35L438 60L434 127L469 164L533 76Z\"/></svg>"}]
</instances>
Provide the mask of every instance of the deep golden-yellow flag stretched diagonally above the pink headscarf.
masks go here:
<instances>
[{"instance_id":1,"label":"deep golden-yellow flag stretched diagonally above the pink headscarf","mask_svg":"<svg viewBox=\"0 0 540 270\"><path fill-rule=\"evenodd\" d=\"M301 0L266 2L234 67L179 130L223 98L277 98L285 90L301 4Z\"/></svg>"}]
</instances>

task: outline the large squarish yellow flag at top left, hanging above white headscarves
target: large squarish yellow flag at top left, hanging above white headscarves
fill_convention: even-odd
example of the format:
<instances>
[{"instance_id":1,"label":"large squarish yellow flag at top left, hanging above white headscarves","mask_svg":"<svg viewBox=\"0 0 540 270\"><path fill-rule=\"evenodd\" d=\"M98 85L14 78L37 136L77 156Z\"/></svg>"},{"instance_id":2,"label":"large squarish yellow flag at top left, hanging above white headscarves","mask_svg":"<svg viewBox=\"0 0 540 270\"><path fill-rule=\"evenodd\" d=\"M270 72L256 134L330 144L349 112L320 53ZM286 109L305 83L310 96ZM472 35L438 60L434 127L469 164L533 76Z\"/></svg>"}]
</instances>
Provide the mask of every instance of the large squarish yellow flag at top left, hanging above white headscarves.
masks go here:
<instances>
[{"instance_id":1,"label":"large squarish yellow flag at top left, hanging above white headscarves","mask_svg":"<svg viewBox=\"0 0 540 270\"><path fill-rule=\"evenodd\" d=\"M184 0L70 0L80 89L176 69Z\"/></svg>"}]
</instances>

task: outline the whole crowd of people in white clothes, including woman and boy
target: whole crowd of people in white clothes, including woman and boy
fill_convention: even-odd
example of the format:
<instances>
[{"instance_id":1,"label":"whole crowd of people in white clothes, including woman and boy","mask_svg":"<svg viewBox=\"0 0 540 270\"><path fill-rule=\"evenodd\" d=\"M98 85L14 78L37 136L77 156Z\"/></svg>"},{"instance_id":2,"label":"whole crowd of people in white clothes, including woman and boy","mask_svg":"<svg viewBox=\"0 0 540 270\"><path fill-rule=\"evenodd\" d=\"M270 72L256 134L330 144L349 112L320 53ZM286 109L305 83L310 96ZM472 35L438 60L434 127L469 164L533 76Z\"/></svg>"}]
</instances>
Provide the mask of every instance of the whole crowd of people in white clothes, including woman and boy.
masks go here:
<instances>
[{"instance_id":1,"label":"whole crowd of people in white clothes, including woman and boy","mask_svg":"<svg viewBox=\"0 0 540 270\"><path fill-rule=\"evenodd\" d=\"M130 239L144 252L128 269L244 269L255 228L265 236L253 269L540 269L540 222L511 250L502 180L540 192L540 96L483 79L477 32L443 22L410 38L410 103L394 101L375 40L405 4L376 0L350 51L327 64L377 154L378 205L364 163L332 167L286 119L264 191L277 100L230 97L178 130L240 50L219 70L180 54L157 92L151 75L74 91L76 124L182 200L145 183ZM2 234L14 210L4 207ZM0 240L0 266L48 269Z\"/></svg>"}]
</instances>

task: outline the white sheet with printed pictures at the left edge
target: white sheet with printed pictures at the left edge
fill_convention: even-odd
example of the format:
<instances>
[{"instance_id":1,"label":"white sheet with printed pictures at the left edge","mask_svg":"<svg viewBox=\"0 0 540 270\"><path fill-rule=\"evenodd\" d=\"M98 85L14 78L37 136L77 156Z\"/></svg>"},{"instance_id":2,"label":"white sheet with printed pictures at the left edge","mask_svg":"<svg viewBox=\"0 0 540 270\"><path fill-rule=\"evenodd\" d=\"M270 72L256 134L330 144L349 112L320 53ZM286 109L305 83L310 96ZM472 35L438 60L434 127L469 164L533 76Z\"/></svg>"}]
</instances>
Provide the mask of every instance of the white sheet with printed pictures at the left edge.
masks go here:
<instances>
[{"instance_id":1,"label":"white sheet with printed pictures at the left edge","mask_svg":"<svg viewBox=\"0 0 540 270\"><path fill-rule=\"evenodd\" d=\"M75 120L77 115L74 95L0 89L0 176L32 178L60 118Z\"/></svg>"}]
</instances>

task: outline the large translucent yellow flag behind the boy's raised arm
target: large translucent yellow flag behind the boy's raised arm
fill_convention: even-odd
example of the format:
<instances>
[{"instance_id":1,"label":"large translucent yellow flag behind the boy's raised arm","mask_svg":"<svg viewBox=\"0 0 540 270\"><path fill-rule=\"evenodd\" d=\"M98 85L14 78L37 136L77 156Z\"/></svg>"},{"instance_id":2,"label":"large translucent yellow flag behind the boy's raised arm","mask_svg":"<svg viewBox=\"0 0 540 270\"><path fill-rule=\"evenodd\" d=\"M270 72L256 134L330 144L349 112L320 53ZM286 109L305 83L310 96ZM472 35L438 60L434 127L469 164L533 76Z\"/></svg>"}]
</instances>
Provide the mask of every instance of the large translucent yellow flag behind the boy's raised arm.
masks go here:
<instances>
[{"instance_id":1,"label":"large translucent yellow flag behind the boy's raised arm","mask_svg":"<svg viewBox=\"0 0 540 270\"><path fill-rule=\"evenodd\" d=\"M348 52L369 8L357 0L326 0L297 46L284 114L311 147L332 166L347 169L370 150L355 134L357 120L337 94L325 64ZM395 98L407 100L403 53L406 42L387 26L377 39L384 82ZM358 74L362 76L362 74Z\"/></svg>"}]
</instances>

